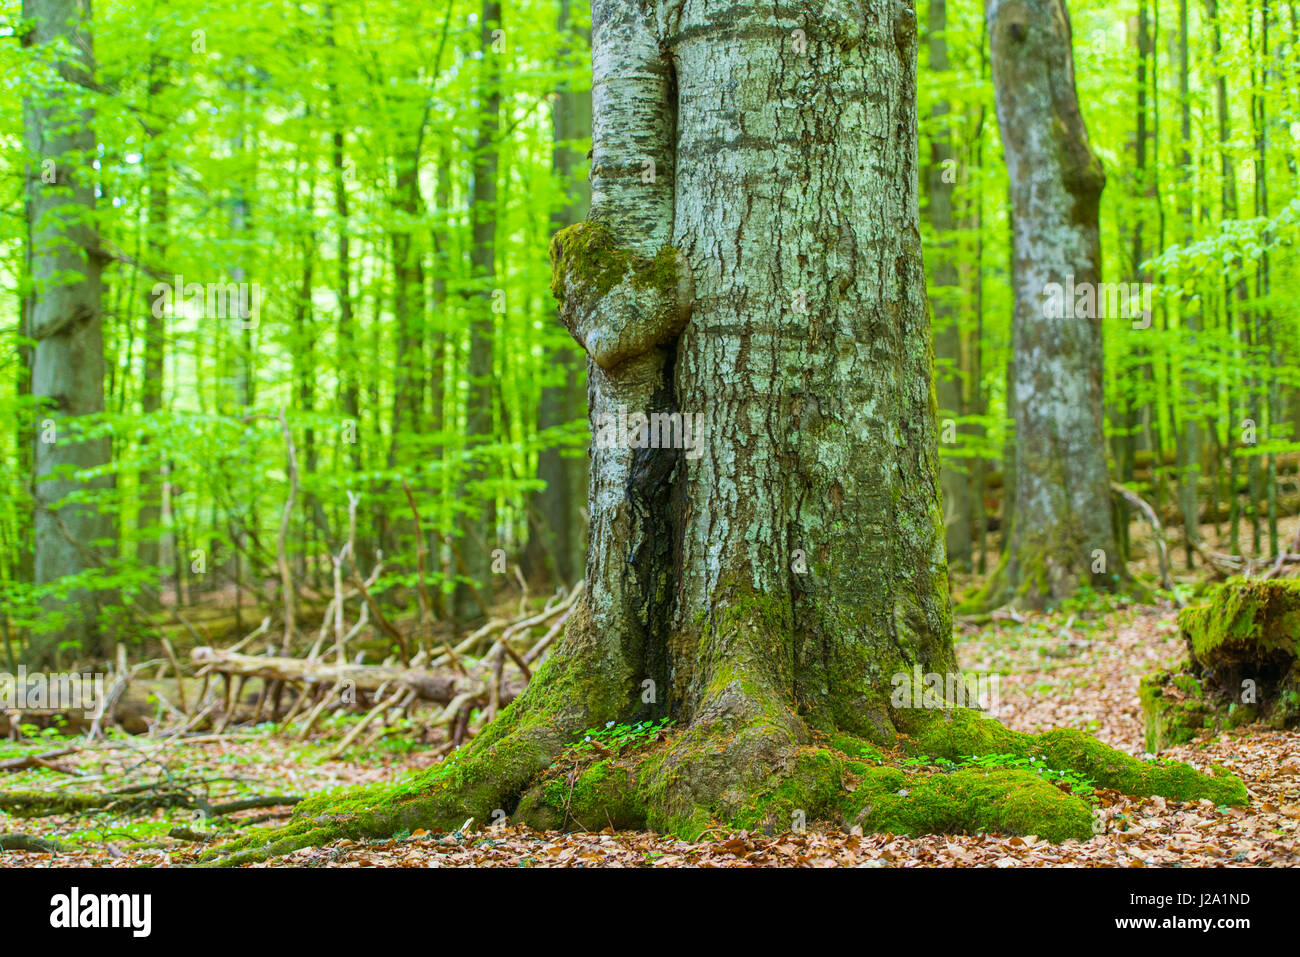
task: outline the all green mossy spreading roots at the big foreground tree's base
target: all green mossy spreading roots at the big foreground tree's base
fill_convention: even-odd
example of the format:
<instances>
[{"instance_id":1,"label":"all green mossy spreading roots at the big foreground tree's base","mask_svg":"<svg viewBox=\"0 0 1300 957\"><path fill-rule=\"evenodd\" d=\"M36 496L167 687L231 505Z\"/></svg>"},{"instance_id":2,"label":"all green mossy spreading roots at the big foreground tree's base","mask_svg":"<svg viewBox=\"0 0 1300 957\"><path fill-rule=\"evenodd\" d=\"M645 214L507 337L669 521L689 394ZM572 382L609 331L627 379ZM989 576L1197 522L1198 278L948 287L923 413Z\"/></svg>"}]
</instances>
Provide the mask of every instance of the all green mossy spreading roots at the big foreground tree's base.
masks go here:
<instances>
[{"instance_id":1,"label":"all green mossy spreading roots at the big foreground tree's base","mask_svg":"<svg viewBox=\"0 0 1300 957\"><path fill-rule=\"evenodd\" d=\"M451 831L471 818L491 823L503 814L538 828L653 828L690 840L718 826L789 831L815 820L906 835L1092 836L1089 804L1037 774L879 766L862 753L868 742L841 736L814 744L801 723L783 720L760 700L719 701L664 740L582 766L558 758L584 728L572 731L563 713L554 715L558 722L543 715L537 707L511 709L463 753L412 783L306 801L287 826L213 848L204 859L247 863L342 837ZM893 753L953 761L1040 757L1049 767L1131 794L1227 805L1248 800L1236 778L1143 762L1076 731L1026 735L975 711L936 710L914 718L914 732L898 736Z\"/></svg>"}]
</instances>

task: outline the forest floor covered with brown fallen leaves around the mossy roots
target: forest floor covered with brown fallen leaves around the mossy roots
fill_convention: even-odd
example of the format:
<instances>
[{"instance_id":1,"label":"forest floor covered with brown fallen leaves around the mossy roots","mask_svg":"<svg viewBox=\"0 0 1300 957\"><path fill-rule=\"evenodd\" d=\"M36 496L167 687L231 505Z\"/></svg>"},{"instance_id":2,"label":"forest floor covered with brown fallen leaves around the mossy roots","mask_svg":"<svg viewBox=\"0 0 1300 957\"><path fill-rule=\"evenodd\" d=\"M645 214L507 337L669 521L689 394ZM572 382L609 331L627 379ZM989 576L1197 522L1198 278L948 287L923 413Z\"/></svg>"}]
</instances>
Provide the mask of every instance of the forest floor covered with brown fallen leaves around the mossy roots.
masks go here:
<instances>
[{"instance_id":1,"label":"forest floor covered with brown fallen leaves around the mossy roots","mask_svg":"<svg viewBox=\"0 0 1300 957\"><path fill-rule=\"evenodd\" d=\"M1000 676L994 714L1010 727L1032 732L1078 728L1136 755L1143 754L1138 680L1183 657L1171 606L1089 609L1076 602L1020 622L962 625L957 646L967 672ZM391 779L432 763L426 745L402 735L365 752L354 750L344 761L322 761L322 745L337 741L347 720L326 724L317 740L307 742L277 735L273 726L170 741L114 736L58 759L81 778L48 768L9 772L0 775L0 789L64 787L86 792L155 781L202 788L208 800L225 801L251 794L308 794ZM48 739L0 744L0 761L57 746L58 741ZM1251 804L1216 807L1208 801L1187 804L1097 791L1092 800L1102 832L1088 841L1065 844L1032 836L913 839L811 824L802 833L715 832L701 843L686 843L649 832L541 833L476 823L465 833L417 831L377 843L338 841L259 866L1300 866L1300 733L1262 727L1202 732L1162 757L1202 770L1210 763L1230 768L1245 781ZM224 820L261 817L274 823L289 813L287 807L269 814L250 810ZM26 820L0 814L0 833L53 837L74 848L55 854L0 852L0 866L183 866L203 845L168 836L177 827L213 833L192 810L156 810L144 817L98 811Z\"/></svg>"}]
</instances>

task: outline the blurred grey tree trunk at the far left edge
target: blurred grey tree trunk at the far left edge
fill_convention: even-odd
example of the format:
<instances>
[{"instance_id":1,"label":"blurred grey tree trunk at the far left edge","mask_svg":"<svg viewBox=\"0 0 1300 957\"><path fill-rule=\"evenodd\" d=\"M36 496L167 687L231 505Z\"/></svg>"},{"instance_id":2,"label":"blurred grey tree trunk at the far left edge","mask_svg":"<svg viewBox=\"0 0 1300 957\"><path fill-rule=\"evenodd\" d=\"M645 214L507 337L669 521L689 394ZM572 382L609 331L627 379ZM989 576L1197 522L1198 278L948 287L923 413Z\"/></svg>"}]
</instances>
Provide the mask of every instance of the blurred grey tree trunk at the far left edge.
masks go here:
<instances>
[{"instance_id":1,"label":"blurred grey tree trunk at the far left edge","mask_svg":"<svg viewBox=\"0 0 1300 957\"><path fill-rule=\"evenodd\" d=\"M114 536L112 512L94 503L60 505L72 494L112 488L112 477L83 481L74 469L99 468L112 456L108 437L81 441L69 421L104 411L101 256L94 225L94 116L83 101L94 53L88 4L25 0L25 46L47 48L51 73L32 79L23 127L32 164L27 173L31 273L36 286L29 334L36 341L31 391L40 400L34 441L35 581L46 585L104 563L101 542ZM53 51L60 52L53 52ZM84 588L48 597L58 622L34 636L31 653L49 662L58 648L103 651L96 596Z\"/></svg>"}]
</instances>

